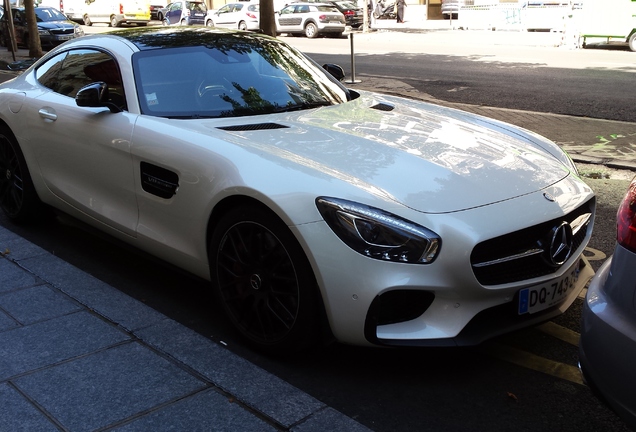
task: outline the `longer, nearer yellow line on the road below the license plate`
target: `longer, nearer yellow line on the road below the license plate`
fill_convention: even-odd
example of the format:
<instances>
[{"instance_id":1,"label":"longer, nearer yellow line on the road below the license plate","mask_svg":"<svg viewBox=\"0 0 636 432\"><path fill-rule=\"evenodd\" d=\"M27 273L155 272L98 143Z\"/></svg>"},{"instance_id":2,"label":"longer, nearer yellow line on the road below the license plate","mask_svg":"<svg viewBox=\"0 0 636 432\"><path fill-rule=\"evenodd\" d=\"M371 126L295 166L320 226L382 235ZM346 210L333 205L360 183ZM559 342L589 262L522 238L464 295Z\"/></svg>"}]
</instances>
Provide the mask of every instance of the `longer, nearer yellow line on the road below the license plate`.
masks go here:
<instances>
[{"instance_id":1,"label":"longer, nearer yellow line on the road below the license plate","mask_svg":"<svg viewBox=\"0 0 636 432\"><path fill-rule=\"evenodd\" d=\"M529 352L500 345L494 342L484 345L486 352L501 360L516 364L527 369L542 372L561 378L575 384L584 385L579 368L565 363L555 362Z\"/></svg>"}]
</instances>

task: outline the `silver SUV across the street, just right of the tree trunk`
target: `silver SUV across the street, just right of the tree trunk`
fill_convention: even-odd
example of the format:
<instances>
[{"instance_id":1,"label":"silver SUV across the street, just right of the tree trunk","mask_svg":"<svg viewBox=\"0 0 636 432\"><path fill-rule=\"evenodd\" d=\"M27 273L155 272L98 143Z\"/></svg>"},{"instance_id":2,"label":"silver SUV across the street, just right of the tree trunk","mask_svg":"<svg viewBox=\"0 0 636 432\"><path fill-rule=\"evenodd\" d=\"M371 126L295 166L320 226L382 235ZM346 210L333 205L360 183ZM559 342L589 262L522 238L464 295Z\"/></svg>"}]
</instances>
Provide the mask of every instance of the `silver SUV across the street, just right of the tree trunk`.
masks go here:
<instances>
[{"instance_id":1,"label":"silver SUV across the street, just right of the tree trunk","mask_svg":"<svg viewBox=\"0 0 636 432\"><path fill-rule=\"evenodd\" d=\"M292 3L276 12L276 32L340 37L345 31L345 18L335 6L324 3Z\"/></svg>"}]
</instances>

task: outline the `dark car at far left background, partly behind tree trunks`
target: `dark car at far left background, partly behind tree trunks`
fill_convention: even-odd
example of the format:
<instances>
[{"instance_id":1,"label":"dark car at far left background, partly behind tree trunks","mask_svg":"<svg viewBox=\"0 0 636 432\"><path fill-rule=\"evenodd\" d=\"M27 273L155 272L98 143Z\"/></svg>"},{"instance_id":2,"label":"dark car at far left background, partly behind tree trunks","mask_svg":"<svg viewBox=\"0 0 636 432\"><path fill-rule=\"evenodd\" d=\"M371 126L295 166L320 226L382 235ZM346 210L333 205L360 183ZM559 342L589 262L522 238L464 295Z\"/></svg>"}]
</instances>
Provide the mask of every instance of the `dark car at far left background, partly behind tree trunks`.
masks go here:
<instances>
[{"instance_id":1,"label":"dark car at far left background, partly behind tree trunks","mask_svg":"<svg viewBox=\"0 0 636 432\"><path fill-rule=\"evenodd\" d=\"M29 28L24 8L11 8L11 14L13 15L16 43L18 46L28 47ZM40 44L43 48L51 48L76 37L84 36L84 30L79 24L69 20L62 12L52 7L36 7L35 17L40 35ZM1 26L1 42L3 46L9 46L6 18L7 16L3 14Z\"/></svg>"}]
</instances>

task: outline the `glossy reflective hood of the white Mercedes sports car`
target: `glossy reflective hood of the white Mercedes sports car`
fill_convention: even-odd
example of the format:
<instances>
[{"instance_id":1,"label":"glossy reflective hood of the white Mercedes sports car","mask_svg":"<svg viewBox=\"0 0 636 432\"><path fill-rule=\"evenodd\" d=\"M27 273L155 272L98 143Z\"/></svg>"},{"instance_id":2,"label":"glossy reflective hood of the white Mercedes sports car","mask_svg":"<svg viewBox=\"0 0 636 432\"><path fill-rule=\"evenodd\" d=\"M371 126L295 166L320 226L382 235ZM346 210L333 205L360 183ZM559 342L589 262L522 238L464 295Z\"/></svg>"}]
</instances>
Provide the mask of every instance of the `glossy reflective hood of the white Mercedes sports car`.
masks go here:
<instances>
[{"instance_id":1,"label":"glossy reflective hood of the white Mercedes sports car","mask_svg":"<svg viewBox=\"0 0 636 432\"><path fill-rule=\"evenodd\" d=\"M232 119L224 139L422 212L509 200L570 174L527 131L401 98L367 94L263 120Z\"/></svg>"}]
</instances>

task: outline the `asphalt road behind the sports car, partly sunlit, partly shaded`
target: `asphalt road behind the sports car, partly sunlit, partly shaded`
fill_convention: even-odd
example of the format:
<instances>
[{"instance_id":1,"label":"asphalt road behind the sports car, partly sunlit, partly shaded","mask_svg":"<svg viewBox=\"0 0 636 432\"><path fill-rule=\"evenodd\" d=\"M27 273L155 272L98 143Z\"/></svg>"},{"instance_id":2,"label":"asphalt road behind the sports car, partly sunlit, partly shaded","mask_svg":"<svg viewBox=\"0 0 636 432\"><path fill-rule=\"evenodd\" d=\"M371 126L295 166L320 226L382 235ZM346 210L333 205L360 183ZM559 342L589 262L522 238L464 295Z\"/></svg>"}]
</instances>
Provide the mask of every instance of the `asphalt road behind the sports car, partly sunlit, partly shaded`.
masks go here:
<instances>
[{"instance_id":1,"label":"asphalt road behind the sports car, partly sunlit, partly shaded","mask_svg":"<svg viewBox=\"0 0 636 432\"><path fill-rule=\"evenodd\" d=\"M336 63L355 78L387 80L384 91L636 122L636 53L624 47L568 50L549 33L437 31L356 34L347 39L283 37L319 64ZM393 83L393 84L392 84ZM355 85L353 85L355 87Z\"/></svg>"}]
</instances>

